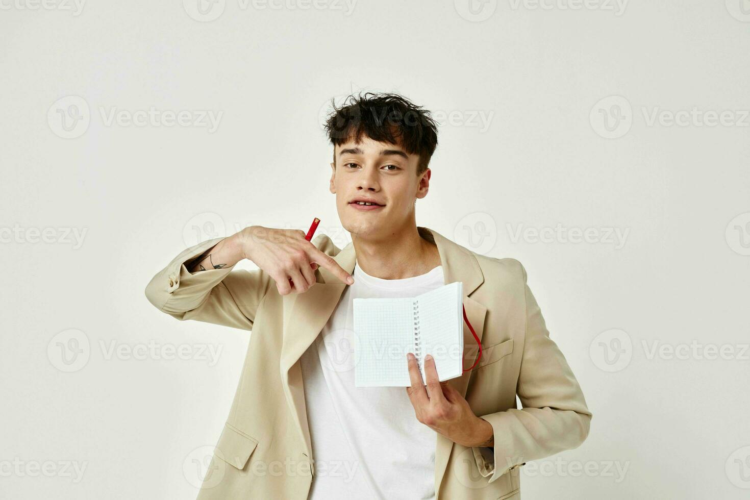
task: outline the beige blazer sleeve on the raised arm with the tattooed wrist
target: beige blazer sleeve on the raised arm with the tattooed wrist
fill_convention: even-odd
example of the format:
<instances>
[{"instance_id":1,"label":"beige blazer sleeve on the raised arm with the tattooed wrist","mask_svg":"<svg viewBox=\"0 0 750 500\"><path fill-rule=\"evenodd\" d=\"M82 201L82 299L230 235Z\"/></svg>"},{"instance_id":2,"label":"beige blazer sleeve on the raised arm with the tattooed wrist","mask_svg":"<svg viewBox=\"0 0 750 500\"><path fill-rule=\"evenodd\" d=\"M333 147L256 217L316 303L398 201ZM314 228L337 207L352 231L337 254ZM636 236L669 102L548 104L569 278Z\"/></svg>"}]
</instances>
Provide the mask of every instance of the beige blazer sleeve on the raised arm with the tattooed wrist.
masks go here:
<instances>
[{"instance_id":1,"label":"beige blazer sleeve on the raised arm with the tattooed wrist","mask_svg":"<svg viewBox=\"0 0 750 500\"><path fill-rule=\"evenodd\" d=\"M190 273L185 263L200 256L223 238L187 248L157 272L145 287L148 301L180 321L214 323L252 330L260 301L275 284L265 271L234 269L234 265Z\"/></svg>"}]
</instances>

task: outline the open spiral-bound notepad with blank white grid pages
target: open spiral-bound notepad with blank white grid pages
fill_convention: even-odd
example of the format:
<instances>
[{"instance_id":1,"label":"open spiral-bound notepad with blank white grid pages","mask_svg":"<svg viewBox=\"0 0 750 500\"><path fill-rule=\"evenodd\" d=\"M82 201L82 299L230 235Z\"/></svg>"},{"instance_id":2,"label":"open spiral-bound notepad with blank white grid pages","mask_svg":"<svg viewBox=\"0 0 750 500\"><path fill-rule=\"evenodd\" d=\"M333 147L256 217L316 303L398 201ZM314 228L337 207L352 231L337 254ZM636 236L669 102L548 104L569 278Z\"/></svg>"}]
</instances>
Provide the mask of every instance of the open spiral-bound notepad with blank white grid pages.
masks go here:
<instances>
[{"instance_id":1,"label":"open spiral-bound notepad with blank white grid pages","mask_svg":"<svg viewBox=\"0 0 750 500\"><path fill-rule=\"evenodd\" d=\"M425 378L432 355L440 382L463 374L463 283L410 298L354 299L354 385L407 387L407 353Z\"/></svg>"}]
</instances>

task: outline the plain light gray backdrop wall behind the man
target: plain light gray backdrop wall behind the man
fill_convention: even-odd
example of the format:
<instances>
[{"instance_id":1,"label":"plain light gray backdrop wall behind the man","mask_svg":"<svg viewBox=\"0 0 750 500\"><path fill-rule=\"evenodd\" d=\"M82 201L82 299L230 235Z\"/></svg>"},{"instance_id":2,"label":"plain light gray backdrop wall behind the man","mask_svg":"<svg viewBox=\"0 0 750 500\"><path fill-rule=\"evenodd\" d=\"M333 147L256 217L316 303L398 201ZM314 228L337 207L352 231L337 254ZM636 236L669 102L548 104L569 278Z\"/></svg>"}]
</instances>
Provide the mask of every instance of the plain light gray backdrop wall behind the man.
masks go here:
<instances>
[{"instance_id":1,"label":"plain light gray backdrop wall behind the man","mask_svg":"<svg viewBox=\"0 0 750 500\"><path fill-rule=\"evenodd\" d=\"M248 332L177 322L145 285L253 224L320 217L347 244L320 124L369 90L442 116L419 225L523 262L593 412L523 498L746 498L742 1L0 1L0 496L196 496ZM107 120L150 107L192 114Z\"/></svg>"}]
</instances>

